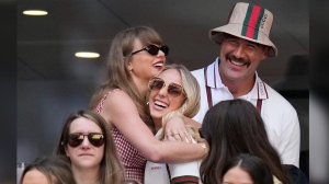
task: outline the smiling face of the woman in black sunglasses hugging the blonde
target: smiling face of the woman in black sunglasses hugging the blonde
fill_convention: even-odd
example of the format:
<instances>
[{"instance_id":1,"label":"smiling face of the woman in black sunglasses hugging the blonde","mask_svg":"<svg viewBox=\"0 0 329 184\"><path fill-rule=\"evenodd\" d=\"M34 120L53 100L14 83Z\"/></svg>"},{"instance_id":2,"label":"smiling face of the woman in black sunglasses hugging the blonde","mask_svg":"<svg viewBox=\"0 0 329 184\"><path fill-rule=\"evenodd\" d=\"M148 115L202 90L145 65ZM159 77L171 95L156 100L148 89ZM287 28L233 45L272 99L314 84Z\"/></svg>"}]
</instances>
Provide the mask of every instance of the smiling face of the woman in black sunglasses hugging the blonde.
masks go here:
<instances>
[{"instance_id":1,"label":"smiling face of the woman in black sunglasses hugging the blonde","mask_svg":"<svg viewBox=\"0 0 329 184\"><path fill-rule=\"evenodd\" d=\"M134 42L134 49L132 53L140 50L148 45L143 45L136 38ZM164 53L159 50L156 56L150 55L146 50L138 51L131 57L128 70L132 71L133 78L148 81L151 77L157 76L162 70L166 64Z\"/></svg>"}]
</instances>

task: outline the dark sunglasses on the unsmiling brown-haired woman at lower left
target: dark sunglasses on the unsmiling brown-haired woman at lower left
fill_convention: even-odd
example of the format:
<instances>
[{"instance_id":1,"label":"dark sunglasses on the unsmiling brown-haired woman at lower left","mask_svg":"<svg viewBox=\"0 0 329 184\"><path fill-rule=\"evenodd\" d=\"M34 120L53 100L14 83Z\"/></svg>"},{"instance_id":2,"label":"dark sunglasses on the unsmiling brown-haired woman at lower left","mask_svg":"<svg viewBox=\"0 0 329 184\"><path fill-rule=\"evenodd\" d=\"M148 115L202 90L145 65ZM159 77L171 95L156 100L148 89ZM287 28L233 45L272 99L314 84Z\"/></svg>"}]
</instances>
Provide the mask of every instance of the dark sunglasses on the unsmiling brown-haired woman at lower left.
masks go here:
<instances>
[{"instance_id":1,"label":"dark sunglasses on the unsmiling brown-haired woman at lower left","mask_svg":"<svg viewBox=\"0 0 329 184\"><path fill-rule=\"evenodd\" d=\"M104 145L105 141L104 136L100 133L89 133L89 134L73 133L67 137L67 143L70 147L76 148L82 143L86 136L88 137L89 142L94 147L101 147L102 145Z\"/></svg>"}]
</instances>

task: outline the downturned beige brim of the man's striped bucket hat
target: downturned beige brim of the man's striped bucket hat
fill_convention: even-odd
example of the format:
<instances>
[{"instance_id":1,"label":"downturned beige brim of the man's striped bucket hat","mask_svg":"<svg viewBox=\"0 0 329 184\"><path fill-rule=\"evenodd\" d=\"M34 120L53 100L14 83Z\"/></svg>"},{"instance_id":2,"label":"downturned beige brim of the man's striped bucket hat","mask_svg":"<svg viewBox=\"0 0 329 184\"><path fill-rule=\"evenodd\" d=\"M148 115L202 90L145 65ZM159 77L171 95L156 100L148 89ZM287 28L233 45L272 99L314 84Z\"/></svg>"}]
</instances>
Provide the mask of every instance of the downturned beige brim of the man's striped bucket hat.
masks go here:
<instances>
[{"instance_id":1,"label":"downturned beige brim of the man's striped bucket hat","mask_svg":"<svg viewBox=\"0 0 329 184\"><path fill-rule=\"evenodd\" d=\"M213 39L216 43L222 43L223 34L218 33L227 33L237 37L241 37L243 39L259 43L265 46L269 46L271 49L269 51L269 57L275 57L277 56L277 48L275 45L269 39L269 37L263 34L262 32L259 32L258 39L252 39L250 37L246 37L241 35L242 24L227 24L220 27L216 27L209 31L209 38Z\"/></svg>"}]
</instances>

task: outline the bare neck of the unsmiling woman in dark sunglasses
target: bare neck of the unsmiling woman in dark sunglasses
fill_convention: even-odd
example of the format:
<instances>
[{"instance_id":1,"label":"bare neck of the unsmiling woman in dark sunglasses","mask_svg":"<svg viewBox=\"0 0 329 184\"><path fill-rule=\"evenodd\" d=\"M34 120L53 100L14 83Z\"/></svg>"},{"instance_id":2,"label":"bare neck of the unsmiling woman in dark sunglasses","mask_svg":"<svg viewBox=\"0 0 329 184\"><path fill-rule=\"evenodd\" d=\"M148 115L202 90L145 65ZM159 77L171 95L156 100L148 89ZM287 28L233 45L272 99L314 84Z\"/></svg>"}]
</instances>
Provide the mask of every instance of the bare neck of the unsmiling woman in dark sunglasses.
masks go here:
<instances>
[{"instance_id":1,"label":"bare neck of the unsmiling woman in dark sunglasses","mask_svg":"<svg viewBox=\"0 0 329 184\"><path fill-rule=\"evenodd\" d=\"M79 169L72 165L72 172L77 184L97 184L100 175L100 168Z\"/></svg>"}]
</instances>

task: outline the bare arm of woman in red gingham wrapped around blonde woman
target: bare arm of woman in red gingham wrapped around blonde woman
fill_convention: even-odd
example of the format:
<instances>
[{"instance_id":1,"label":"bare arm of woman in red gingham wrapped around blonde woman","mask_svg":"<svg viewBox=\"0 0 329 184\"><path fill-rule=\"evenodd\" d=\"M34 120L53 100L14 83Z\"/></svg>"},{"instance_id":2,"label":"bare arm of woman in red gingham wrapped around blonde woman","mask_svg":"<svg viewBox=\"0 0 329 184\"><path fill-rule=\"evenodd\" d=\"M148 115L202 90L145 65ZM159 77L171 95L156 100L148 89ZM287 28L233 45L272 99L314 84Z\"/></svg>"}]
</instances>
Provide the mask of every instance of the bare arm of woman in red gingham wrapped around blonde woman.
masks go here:
<instances>
[{"instance_id":1,"label":"bare arm of woman in red gingham wrapped around blonde woman","mask_svg":"<svg viewBox=\"0 0 329 184\"><path fill-rule=\"evenodd\" d=\"M140 119L135 103L124 91L117 90L107 96L101 115L149 161L186 162L200 160L207 152L201 143L159 141Z\"/></svg>"}]
</instances>

